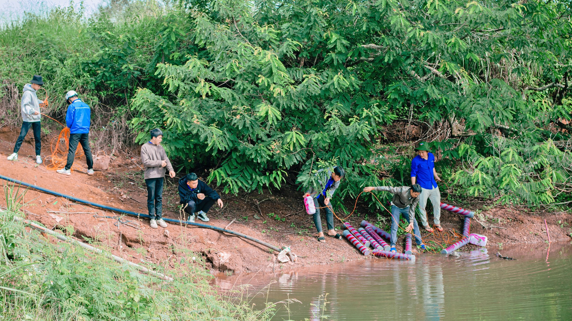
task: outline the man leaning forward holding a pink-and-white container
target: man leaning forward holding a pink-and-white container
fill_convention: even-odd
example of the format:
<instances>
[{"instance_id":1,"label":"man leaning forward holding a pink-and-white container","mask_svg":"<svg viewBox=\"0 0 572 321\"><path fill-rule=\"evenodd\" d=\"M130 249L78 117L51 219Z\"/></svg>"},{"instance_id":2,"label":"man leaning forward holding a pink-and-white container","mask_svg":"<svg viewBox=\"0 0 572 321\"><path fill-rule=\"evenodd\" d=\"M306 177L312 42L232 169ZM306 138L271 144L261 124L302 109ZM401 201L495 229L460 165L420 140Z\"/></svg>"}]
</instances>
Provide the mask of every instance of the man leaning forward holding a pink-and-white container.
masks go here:
<instances>
[{"instance_id":1,"label":"man leaning forward holding a pink-and-white container","mask_svg":"<svg viewBox=\"0 0 572 321\"><path fill-rule=\"evenodd\" d=\"M321 228L320 207L325 208L325 221L328 224L328 236L339 239L341 238L341 235L337 234L336 230L333 228L333 212L329 200L332 198L336 188L340 186L340 180L345 175L344 168L336 166L333 168L333 172L324 172L324 170L319 170L316 175L321 175L318 182L320 183L320 186L324 186L323 189L321 191L316 191L313 188L310 188L310 190L305 193L304 197L311 195L314 199L316 212L313 214L313 219L316 230L318 231L318 240L320 242L325 242L324 232Z\"/></svg>"}]
</instances>

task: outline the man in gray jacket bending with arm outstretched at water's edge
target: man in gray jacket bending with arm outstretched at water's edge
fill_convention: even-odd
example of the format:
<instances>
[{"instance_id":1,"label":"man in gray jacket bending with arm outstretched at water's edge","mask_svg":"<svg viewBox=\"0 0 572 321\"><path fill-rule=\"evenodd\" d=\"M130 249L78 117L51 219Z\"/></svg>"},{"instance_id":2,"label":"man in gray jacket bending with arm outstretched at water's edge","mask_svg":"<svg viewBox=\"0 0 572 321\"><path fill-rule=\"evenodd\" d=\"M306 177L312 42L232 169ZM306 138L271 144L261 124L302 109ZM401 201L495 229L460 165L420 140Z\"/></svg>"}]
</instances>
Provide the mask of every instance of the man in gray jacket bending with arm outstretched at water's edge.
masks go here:
<instances>
[{"instance_id":1,"label":"man in gray jacket bending with arm outstretched at water's edge","mask_svg":"<svg viewBox=\"0 0 572 321\"><path fill-rule=\"evenodd\" d=\"M419 225L415 219L415 207L419 203L419 194L421 194L421 186L419 184L413 184L410 186L378 186L378 187L366 187L363 189L364 192L376 191L386 191L394 194L391 199L391 251L395 252L395 242L397 241L397 229L399 227L399 216L403 214L403 218L407 220L409 225L405 228L405 231L411 233L413 230L413 235L415 236L415 242L420 245L423 250L425 249L425 244L421 240L421 232L419 231Z\"/></svg>"}]
</instances>

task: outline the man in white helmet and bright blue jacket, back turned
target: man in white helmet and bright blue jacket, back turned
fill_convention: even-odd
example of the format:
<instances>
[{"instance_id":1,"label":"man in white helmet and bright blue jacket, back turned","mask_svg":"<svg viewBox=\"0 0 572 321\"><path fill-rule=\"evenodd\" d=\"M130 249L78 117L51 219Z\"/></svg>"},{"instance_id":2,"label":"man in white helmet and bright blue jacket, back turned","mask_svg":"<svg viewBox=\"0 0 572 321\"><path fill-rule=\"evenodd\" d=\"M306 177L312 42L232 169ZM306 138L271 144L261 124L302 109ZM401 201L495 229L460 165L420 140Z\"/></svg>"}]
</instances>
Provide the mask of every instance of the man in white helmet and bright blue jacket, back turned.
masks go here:
<instances>
[{"instance_id":1,"label":"man in white helmet and bright blue jacket, back turned","mask_svg":"<svg viewBox=\"0 0 572 321\"><path fill-rule=\"evenodd\" d=\"M88 163L88 175L93 175L92 150L89 148L91 110L88 104L77 97L77 93L74 90L67 92L66 101L70 104L67 106L66 113L66 126L70 129L70 143L67 151L66 166L61 170L57 170L57 172L67 176L72 175L70 168L72 168L73 160L76 158L77 143L79 142L84 149L85 160Z\"/></svg>"}]
</instances>

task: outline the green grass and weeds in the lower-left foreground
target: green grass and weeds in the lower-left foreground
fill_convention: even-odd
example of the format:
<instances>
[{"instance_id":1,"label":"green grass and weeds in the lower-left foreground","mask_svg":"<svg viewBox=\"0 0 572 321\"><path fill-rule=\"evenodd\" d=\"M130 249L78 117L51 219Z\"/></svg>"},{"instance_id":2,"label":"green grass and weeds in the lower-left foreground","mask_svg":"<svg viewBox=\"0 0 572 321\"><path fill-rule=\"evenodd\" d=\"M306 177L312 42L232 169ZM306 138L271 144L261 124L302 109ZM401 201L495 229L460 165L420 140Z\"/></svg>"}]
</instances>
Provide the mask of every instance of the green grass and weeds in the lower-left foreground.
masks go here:
<instances>
[{"instance_id":1,"label":"green grass and weeds in the lower-left foreground","mask_svg":"<svg viewBox=\"0 0 572 321\"><path fill-rule=\"evenodd\" d=\"M14 222L22 216L22 193L5 186L5 195L0 320L268 320L275 312L275 304L255 311L240 297L221 296L209 286L204 263L192 263L184 247L174 249L173 268L146 264L174 278L164 282Z\"/></svg>"}]
</instances>

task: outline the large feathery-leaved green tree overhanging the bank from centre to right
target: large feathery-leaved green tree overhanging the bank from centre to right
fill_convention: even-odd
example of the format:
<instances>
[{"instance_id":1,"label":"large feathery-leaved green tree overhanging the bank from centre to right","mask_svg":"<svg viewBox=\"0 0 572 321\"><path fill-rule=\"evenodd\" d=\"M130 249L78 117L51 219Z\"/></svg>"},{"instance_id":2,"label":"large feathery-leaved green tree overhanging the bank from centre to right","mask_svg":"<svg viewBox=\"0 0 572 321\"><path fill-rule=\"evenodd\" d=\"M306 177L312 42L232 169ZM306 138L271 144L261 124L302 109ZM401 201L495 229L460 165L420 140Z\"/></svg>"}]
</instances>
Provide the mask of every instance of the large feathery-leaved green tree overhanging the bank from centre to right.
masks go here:
<instances>
[{"instance_id":1,"label":"large feathery-leaved green tree overhanging the bank from centre to right","mask_svg":"<svg viewBox=\"0 0 572 321\"><path fill-rule=\"evenodd\" d=\"M469 194L552 202L570 186L570 152L551 142L570 133L569 4L188 1L199 49L157 65L169 93L140 89L132 124L139 142L164 127L170 153L226 191L335 158L355 195L378 180L364 178L382 165L374 137L413 117L456 130L434 147L465 161Z\"/></svg>"}]
</instances>

